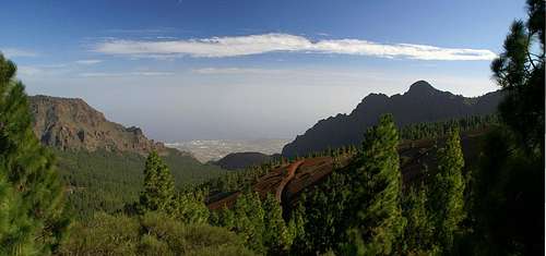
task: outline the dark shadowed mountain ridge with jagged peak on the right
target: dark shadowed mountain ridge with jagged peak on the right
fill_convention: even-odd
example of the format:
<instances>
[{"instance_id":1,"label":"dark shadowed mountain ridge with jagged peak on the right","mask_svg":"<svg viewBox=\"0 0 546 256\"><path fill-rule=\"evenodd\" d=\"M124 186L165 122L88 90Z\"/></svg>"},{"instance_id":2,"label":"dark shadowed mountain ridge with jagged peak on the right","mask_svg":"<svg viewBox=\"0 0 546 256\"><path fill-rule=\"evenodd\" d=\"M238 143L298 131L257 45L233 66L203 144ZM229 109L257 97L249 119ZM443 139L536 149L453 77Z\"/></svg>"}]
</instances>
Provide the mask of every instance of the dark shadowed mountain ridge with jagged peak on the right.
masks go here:
<instances>
[{"instance_id":1,"label":"dark shadowed mountain ridge with jagged peak on the right","mask_svg":"<svg viewBox=\"0 0 546 256\"><path fill-rule=\"evenodd\" d=\"M466 98L441 92L425 81L414 83L403 95L391 97L370 94L349 113L337 114L319 121L304 135L283 148L283 156L304 156L313 151L357 145L366 129L373 125L383 113L392 113L399 126L434 122L468 115L489 114L496 111L500 92Z\"/></svg>"}]
</instances>

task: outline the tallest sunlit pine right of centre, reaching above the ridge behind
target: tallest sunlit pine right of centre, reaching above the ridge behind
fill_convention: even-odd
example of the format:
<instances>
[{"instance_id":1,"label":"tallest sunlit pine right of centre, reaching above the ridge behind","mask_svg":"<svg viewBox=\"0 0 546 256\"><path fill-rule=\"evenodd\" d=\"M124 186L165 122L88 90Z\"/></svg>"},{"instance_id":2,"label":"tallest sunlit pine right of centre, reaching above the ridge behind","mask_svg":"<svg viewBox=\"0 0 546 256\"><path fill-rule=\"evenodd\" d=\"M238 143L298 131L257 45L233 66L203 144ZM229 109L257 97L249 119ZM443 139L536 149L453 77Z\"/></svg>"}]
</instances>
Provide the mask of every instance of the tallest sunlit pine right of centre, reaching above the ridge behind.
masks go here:
<instances>
[{"instance_id":1,"label":"tallest sunlit pine right of centre, reaching above the ridge behind","mask_svg":"<svg viewBox=\"0 0 546 256\"><path fill-rule=\"evenodd\" d=\"M357 187L352 199L356 207L348 244L344 254L388 255L403 232L405 219L400 207L401 172L397 154L399 136L392 115L380 118L379 124L366 133L359 167L354 172Z\"/></svg>"}]
</instances>

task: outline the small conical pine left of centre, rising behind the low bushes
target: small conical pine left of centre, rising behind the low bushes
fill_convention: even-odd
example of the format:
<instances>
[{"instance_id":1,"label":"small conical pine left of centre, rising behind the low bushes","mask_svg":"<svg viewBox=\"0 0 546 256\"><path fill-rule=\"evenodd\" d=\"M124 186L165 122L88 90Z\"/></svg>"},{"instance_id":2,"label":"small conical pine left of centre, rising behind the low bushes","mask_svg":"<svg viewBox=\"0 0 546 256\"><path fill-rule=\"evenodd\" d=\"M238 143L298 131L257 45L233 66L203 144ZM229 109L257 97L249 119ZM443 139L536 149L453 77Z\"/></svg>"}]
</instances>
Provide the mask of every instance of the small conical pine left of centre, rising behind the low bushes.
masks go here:
<instances>
[{"instance_id":1,"label":"small conical pine left of centre, rising behind the low bushes","mask_svg":"<svg viewBox=\"0 0 546 256\"><path fill-rule=\"evenodd\" d=\"M175 181L167 164L156 151L150 153L144 168L144 191L140 196L143 210L171 214L175 206Z\"/></svg>"}]
</instances>

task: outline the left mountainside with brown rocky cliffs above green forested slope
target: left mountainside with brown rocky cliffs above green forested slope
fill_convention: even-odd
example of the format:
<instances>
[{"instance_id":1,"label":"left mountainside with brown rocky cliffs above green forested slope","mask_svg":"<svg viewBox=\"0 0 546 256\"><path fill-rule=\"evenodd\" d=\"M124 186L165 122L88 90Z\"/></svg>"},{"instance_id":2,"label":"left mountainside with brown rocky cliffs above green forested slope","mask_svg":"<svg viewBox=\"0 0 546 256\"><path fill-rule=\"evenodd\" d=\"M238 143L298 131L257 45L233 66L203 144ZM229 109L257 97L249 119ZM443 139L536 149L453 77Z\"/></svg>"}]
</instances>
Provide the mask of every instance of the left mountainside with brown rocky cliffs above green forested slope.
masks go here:
<instances>
[{"instance_id":1,"label":"left mountainside with brown rocky cliffs above green forested slope","mask_svg":"<svg viewBox=\"0 0 546 256\"><path fill-rule=\"evenodd\" d=\"M57 156L69 202L78 218L115 212L138 199L150 150L157 150L178 187L225 173L188 153L146 138L138 127L108 121L82 99L29 97L34 132Z\"/></svg>"}]
</instances>

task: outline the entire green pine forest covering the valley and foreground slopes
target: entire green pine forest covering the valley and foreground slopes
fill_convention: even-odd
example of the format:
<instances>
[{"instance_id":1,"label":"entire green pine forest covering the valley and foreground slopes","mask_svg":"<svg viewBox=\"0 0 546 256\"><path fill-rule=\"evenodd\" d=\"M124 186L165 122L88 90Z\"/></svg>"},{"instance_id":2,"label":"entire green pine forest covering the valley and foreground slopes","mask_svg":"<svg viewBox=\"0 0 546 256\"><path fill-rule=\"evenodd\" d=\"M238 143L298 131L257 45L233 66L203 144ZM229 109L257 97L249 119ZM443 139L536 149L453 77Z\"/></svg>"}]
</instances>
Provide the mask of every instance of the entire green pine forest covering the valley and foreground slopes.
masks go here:
<instances>
[{"instance_id":1,"label":"entire green pine forest covering the valley and foreground slopes","mask_svg":"<svg viewBox=\"0 0 546 256\"><path fill-rule=\"evenodd\" d=\"M506 94L497 114L399 129L384 113L361 145L227 173L175 151L41 146L0 56L0 255L544 255L545 2L527 8L490 64ZM471 131L479 154L466 162ZM406 182L400 145L423 139L439 142L435 166ZM317 156L335 168L296 202L252 190ZM233 193L234 205L207 207Z\"/></svg>"}]
</instances>

